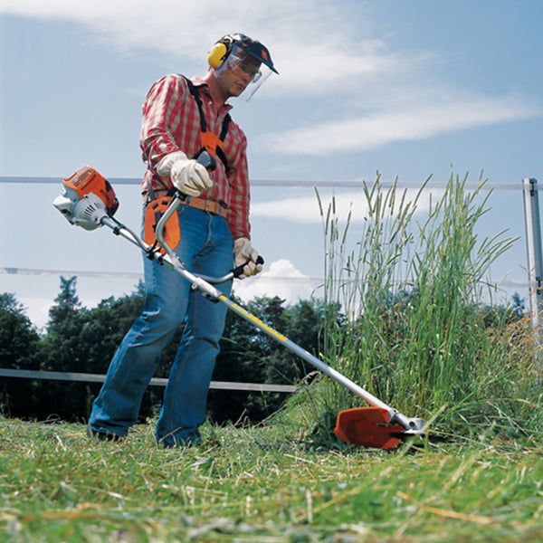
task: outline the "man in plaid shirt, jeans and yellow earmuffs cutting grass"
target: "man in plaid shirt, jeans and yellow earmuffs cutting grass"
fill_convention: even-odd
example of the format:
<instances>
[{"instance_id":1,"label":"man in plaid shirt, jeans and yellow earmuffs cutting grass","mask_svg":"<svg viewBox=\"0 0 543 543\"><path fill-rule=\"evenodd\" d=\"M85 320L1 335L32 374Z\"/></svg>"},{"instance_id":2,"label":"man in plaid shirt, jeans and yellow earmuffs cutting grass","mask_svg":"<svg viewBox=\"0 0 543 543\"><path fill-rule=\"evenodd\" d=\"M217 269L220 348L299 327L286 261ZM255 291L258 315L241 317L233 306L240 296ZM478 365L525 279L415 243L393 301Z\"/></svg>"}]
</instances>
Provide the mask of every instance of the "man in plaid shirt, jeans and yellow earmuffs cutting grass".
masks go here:
<instances>
[{"instance_id":1,"label":"man in plaid shirt, jeans and yellow earmuffs cutting grass","mask_svg":"<svg viewBox=\"0 0 543 543\"><path fill-rule=\"evenodd\" d=\"M142 183L144 231L152 233L153 213L146 213L150 203L179 190L186 195L173 217L180 261L188 271L207 276L224 276L244 265L243 278L262 265L250 241L247 140L230 118L227 100L261 83L262 70L277 71L266 47L243 34L221 38L208 63L203 79L160 79L143 105L140 147L148 167ZM204 149L216 158L213 172L195 159ZM144 272L144 309L111 360L92 406L89 433L100 440L127 435L163 348L185 323L155 436L166 447L200 443L198 426L205 421L226 309L191 291L188 281L155 260L144 258ZM216 286L228 296L231 283Z\"/></svg>"}]
</instances>

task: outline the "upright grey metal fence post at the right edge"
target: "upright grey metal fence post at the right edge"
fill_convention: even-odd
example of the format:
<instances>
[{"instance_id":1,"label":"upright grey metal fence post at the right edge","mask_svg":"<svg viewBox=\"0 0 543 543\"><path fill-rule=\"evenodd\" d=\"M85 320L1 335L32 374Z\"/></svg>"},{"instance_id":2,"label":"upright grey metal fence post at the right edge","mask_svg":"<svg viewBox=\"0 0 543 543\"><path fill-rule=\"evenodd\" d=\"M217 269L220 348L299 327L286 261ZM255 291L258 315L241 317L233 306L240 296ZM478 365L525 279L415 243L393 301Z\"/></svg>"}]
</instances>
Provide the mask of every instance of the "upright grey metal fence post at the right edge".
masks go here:
<instances>
[{"instance_id":1,"label":"upright grey metal fence post at the right edge","mask_svg":"<svg viewBox=\"0 0 543 543\"><path fill-rule=\"evenodd\" d=\"M543 311L543 253L541 251L541 223L539 220L538 181L526 178L522 180L524 196L524 219L526 224L526 249L528 253L528 278L531 320L534 332L542 343L539 318Z\"/></svg>"}]
</instances>

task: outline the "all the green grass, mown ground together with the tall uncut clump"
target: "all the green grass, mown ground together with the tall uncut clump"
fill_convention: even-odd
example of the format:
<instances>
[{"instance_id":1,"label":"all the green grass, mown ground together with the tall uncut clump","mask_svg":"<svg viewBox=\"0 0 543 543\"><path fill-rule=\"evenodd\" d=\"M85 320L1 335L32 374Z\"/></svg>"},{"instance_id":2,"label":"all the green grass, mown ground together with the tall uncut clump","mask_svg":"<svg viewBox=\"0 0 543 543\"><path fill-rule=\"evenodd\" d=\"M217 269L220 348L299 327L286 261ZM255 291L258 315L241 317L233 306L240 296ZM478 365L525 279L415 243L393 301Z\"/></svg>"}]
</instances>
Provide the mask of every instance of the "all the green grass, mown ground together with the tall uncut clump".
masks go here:
<instances>
[{"instance_id":1,"label":"all the green grass, mown ground together with the tall uncut clump","mask_svg":"<svg viewBox=\"0 0 543 543\"><path fill-rule=\"evenodd\" d=\"M152 422L122 443L81 424L0 418L6 541L516 542L543 540L543 405L533 335L486 311L481 283L514 240L480 240L479 191L453 176L423 220L421 193L366 187L367 224L324 216L323 358L448 441L393 451L330 433L350 393L315 378L258 426L205 424L163 450ZM482 185L482 182L481 182ZM405 279L404 279L405 278ZM328 307L328 306L327 306Z\"/></svg>"}]
</instances>

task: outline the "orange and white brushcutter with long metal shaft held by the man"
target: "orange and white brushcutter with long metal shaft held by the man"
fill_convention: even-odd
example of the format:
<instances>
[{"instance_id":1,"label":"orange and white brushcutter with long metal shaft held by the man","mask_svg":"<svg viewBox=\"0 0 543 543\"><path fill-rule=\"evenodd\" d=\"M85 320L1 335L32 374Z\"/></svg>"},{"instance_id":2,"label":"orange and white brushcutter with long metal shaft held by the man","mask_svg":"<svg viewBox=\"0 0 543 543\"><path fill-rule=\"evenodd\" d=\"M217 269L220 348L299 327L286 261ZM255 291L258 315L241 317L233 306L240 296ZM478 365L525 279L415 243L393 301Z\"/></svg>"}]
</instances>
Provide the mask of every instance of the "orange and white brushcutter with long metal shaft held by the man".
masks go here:
<instances>
[{"instance_id":1,"label":"orange and white brushcutter with long metal shaft held by the man","mask_svg":"<svg viewBox=\"0 0 543 543\"><path fill-rule=\"evenodd\" d=\"M207 152L202 153L198 157L198 161L210 170L214 168L214 157ZM190 282L193 289L200 291L208 300L222 303L226 308L248 320L257 329L281 343L281 345L303 358L310 365L317 367L322 373L365 400L371 406L348 409L338 414L334 433L340 440L364 447L388 449L395 447L407 437L425 435L424 421L422 419L409 418L397 409L386 405L375 395L370 394L318 357L311 355L291 339L272 329L261 319L244 310L214 287L216 283L230 281L235 277L239 277L243 272L243 265L231 270L224 277L196 275L186 270L183 262L179 260L167 243L167 236L165 235L168 219L176 213L180 205L184 204L185 198L186 196L178 191L173 196L166 211L157 223L156 240L152 244L142 241L136 233L113 217L119 206L113 188L103 176L91 167L82 167L72 176L64 179L61 194L53 201L53 205L59 209L71 224L81 226L86 230L93 230L104 225L108 226L116 235L120 235L130 243L137 245L146 253L148 258L156 260L158 264L165 265L181 275L186 281ZM263 260L261 262L263 263Z\"/></svg>"}]
</instances>

